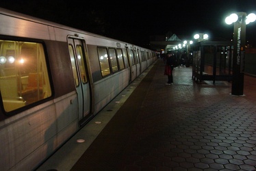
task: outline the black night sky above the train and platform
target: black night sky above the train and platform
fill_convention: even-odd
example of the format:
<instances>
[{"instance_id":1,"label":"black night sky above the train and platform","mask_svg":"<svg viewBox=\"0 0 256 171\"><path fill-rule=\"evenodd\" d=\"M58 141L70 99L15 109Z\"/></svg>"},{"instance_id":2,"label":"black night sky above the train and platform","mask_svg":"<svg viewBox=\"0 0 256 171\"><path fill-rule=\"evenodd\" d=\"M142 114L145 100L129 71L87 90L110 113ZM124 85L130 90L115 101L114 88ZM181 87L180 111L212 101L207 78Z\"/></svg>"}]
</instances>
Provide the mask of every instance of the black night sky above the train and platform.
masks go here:
<instances>
[{"instance_id":1,"label":"black night sky above the train and platform","mask_svg":"<svg viewBox=\"0 0 256 171\"><path fill-rule=\"evenodd\" d=\"M168 31L181 38L206 33L210 39L231 40L233 25L225 23L226 16L232 12L256 14L256 0L8 0L1 1L0 7L142 47L149 44L150 36ZM246 25L246 40L255 44L255 32L256 22Z\"/></svg>"}]
</instances>

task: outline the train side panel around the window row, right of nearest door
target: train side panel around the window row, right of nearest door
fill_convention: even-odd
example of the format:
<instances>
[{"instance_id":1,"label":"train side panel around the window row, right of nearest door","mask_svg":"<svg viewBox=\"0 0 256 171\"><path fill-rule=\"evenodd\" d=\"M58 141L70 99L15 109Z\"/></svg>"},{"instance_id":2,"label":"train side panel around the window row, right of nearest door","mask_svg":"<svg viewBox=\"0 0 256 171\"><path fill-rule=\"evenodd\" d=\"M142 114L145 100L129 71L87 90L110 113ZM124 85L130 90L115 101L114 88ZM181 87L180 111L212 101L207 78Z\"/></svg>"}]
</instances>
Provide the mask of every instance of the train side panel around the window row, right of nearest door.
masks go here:
<instances>
[{"instance_id":1,"label":"train side panel around the window row, right of nearest door","mask_svg":"<svg viewBox=\"0 0 256 171\"><path fill-rule=\"evenodd\" d=\"M87 42L94 85L94 114L97 114L103 107L105 107L105 105L107 105L107 103L110 103L110 101L112 101L115 96L117 96L124 88L129 85L129 68L124 68L123 70L119 70L116 73L103 77L101 75L101 66L99 65L97 48L105 47L107 49L116 49L116 42L110 40L106 41L103 39L98 39L94 42L87 40ZM120 47L120 49L122 49L123 53L125 53L124 45L122 45L122 47Z\"/></svg>"}]
</instances>

